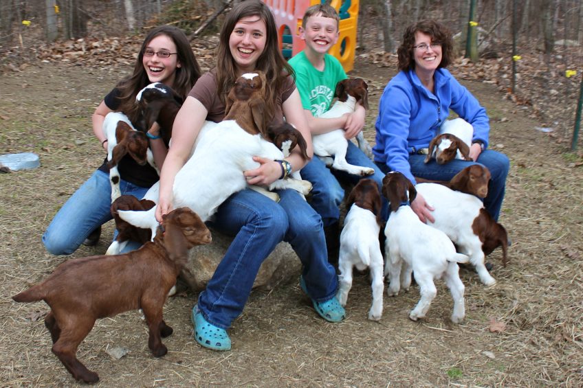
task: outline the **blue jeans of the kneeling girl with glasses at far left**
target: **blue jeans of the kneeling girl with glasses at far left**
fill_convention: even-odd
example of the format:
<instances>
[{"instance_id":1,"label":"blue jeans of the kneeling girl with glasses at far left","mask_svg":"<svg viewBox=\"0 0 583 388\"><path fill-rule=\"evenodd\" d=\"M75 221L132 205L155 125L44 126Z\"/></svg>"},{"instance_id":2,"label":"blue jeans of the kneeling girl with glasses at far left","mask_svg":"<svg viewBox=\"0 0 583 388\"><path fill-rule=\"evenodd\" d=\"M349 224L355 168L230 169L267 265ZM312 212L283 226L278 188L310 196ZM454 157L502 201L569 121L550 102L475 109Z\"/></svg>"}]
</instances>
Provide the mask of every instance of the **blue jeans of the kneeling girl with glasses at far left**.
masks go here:
<instances>
[{"instance_id":1,"label":"blue jeans of the kneeling girl with glasses at far left","mask_svg":"<svg viewBox=\"0 0 583 388\"><path fill-rule=\"evenodd\" d=\"M142 198L148 188L122 179L120 190L122 194ZM45 248L53 255L70 255L83 243L89 233L113 218L110 207L109 174L96 170L54 216L43 234ZM124 251L137 247L139 244L130 243Z\"/></svg>"}]
</instances>

